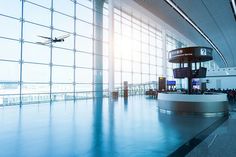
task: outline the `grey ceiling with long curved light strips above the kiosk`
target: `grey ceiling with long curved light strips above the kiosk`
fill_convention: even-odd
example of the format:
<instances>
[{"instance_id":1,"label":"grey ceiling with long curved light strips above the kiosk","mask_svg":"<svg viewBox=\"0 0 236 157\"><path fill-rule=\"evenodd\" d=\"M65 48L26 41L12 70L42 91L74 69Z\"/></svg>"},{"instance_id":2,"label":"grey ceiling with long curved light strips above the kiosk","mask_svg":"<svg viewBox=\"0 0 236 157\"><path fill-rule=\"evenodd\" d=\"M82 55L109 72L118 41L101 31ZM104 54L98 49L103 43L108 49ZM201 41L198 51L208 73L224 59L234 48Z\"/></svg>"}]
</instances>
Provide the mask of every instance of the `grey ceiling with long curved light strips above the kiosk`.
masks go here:
<instances>
[{"instance_id":1,"label":"grey ceiling with long curved light strips above the kiosk","mask_svg":"<svg viewBox=\"0 0 236 157\"><path fill-rule=\"evenodd\" d=\"M198 46L210 44L165 0L134 0L161 18ZM236 20L230 0L172 0L215 44L228 62L236 67ZM214 60L225 67L214 51Z\"/></svg>"}]
</instances>

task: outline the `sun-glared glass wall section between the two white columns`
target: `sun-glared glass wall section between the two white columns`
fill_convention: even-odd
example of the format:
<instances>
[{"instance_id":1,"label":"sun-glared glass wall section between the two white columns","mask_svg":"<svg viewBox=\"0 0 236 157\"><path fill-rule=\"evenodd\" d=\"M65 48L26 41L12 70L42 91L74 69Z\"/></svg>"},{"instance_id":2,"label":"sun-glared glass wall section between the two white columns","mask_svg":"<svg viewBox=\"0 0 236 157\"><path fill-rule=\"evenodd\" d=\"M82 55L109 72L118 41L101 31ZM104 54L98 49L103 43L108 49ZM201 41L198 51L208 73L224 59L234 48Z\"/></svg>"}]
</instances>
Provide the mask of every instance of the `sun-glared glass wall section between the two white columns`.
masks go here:
<instances>
[{"instance_id":1,"label":"sun-glared glass wall section between the two white columns","mask_svg":"<svg viewBox=\"0 0 236 157\"><path fill-rule=\"evenodd\" d=\"M143 94L163 75L162 41L162 32L155 26L114 10L115 88L121 95L124 81L130 95Z\"/></svg>"}]
</instances>

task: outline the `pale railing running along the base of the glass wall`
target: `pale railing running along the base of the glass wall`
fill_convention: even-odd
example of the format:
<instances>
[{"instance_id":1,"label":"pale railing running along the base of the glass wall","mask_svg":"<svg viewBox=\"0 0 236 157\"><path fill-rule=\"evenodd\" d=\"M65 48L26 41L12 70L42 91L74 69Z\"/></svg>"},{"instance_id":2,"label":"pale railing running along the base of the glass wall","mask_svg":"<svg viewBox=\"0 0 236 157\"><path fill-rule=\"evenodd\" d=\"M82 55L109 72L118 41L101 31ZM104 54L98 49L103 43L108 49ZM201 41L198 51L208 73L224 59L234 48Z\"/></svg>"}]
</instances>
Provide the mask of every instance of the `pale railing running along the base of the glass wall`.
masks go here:
<instances>
[{"instance_id":1,"label":"pale railing running along the base of the glass wall","mask_svg":"<svg viewBox=\"0 0 236 157\"><path fill-rule=\"evenodd\" d=\"M132 95L144 95L145 91L149 89L156 89L157 84L150 82L145 84L130 84L128 86L129 96ZM124 88L117 87L115 91L118 91L119 96L124 96ZM103 97L109 97L108 89L103 90ZM82 100L94 98L94 91L76 92L75 96L73 92L59 92L52 93L52 102L56 101L68 101L68 100ZM22 104L39 104L50 102L49 93L31 93L22 95ZM0 106L12 106L19 105L20 96L18 94L2 94L0 95Z\"/></svg>"}]
</instances>

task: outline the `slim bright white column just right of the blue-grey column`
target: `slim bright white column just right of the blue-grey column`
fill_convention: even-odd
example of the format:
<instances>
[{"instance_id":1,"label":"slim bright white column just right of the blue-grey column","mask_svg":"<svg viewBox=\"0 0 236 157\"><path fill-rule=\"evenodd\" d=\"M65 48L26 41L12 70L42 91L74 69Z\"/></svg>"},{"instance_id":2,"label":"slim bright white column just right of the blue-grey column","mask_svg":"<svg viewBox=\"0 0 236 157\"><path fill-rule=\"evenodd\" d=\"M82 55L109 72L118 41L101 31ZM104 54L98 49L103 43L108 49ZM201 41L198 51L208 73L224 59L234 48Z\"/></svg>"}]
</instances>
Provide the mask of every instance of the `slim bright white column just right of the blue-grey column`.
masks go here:
<instances>
[{"instance_id":1,"label":"slim bright white column just right of the blue-grey column","mask_svg":"<svg viewBox=\"0 0 236 157\"><path fill-rule=\"evenodd\" d=\"M109 96L114 91L114 1L108 1L108 21L109 21L109 63L108 63L108 83L109 83Z\"/></svg>"}]
</instances>

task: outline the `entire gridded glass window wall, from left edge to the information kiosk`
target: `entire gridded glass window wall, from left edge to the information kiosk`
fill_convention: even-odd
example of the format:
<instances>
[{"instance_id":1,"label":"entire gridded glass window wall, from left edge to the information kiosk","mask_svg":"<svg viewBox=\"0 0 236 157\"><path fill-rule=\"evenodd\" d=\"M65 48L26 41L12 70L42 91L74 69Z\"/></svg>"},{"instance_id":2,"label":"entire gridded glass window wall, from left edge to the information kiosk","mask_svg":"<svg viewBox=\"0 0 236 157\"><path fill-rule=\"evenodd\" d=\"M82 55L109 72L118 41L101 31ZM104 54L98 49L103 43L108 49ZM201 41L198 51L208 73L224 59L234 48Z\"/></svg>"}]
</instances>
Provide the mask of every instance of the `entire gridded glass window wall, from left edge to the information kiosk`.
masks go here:
<instances>
[{"instance_id":1,"label":"entire gridded glass window wall, from left edge to the information kiosk","mask_svg":"<svg viewBox=\"0 0 236 157\"><path fill-rule=\"evenodd\" d=\"M109 72L120 91L128 81L131 95L143 94L159 76L173 79L166 52L183 42L155 21L119 8L114 9L110 71L108 4L99 10L97 2L0 2L0 105L87 99L98 92L108 96Z\"/></svg>"}]
</instances>

